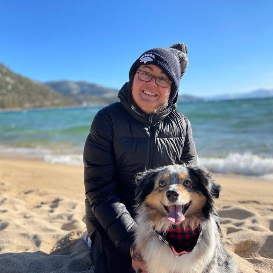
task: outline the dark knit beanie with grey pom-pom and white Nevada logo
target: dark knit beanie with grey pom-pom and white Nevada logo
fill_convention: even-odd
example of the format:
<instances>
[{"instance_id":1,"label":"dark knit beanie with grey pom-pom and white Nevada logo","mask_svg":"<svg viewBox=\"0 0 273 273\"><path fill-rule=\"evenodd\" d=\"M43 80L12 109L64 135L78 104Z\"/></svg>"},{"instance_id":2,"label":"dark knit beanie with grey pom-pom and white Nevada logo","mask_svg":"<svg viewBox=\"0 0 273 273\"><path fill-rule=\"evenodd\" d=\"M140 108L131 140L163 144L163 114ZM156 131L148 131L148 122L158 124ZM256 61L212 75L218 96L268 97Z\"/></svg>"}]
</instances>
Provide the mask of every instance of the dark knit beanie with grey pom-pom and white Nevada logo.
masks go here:
<instances>
[{"instance_id":1,"label":"dark knit beanie with grey pom-pom and white Nevada logo","mask_svg":"<svg viewBox=\"0 0 273 273\"><path fill-rule=\"evenodd\" d=\"M187 45L176 43L171 47L159 47L147 50L140 55L129 71L129 78L143 64L153 64L158 66L168 78L173 82L169 102L171 102L178 93L180 78L187 70L189 63L187 57Z\"/></svg>"}]
</instances>

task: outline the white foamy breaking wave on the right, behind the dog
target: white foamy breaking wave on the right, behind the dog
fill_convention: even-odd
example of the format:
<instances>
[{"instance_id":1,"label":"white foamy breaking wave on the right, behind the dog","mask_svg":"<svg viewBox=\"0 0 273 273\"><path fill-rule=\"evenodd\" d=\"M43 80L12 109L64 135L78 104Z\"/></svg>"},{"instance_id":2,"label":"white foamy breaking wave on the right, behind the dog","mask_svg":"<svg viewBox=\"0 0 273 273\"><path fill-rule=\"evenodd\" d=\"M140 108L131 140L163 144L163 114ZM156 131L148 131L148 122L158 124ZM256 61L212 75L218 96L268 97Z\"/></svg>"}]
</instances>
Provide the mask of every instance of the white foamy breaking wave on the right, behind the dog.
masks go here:
<instances>
[{"instance_id":1,"label":"white foamy breaking wave on the right, behind the dog","mask_svg":"<svg viewBox=\"0 0 273 273\"><path fill-rule=\"evenodd\" d=\"M225 158L201 157L198 163L212 172L273 178L273 158L263 158L252 153L230 153Z\"/></svg>"}]
</instances>

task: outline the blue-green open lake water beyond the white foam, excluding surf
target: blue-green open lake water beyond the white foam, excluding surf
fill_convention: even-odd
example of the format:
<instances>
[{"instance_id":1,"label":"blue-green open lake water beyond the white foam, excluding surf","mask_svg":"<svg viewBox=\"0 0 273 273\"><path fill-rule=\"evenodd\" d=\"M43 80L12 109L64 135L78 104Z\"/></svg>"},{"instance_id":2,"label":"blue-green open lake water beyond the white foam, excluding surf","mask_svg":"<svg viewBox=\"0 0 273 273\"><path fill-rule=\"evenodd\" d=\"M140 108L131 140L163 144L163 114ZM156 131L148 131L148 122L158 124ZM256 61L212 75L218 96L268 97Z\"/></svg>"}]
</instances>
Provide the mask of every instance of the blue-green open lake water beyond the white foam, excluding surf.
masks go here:
<instances>
[{"instance_id":1,"label":"blue-green open lake water beyond the white foam, excluding surf","mask_svg":"<svg viewBox=\"0 0 273 273\"><path fill-rule=\"evenodd\" d=\"M273 156L273 99L180 103L190 120L198 155L226 157L251 152ZM83 150L92 120L102 107L22 110L0 113L3 147Z\"/></svg>"}]
</instances>

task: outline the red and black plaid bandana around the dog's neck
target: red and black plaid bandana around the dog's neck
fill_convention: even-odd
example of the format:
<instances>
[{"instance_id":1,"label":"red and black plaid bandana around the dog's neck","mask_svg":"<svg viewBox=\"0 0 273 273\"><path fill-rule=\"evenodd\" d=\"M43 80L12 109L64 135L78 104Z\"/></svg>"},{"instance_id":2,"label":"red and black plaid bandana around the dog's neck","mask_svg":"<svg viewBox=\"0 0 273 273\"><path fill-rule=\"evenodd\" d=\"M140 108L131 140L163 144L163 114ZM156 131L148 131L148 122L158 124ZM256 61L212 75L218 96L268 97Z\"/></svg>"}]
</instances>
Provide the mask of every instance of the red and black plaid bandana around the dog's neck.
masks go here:
<instances>
[{"instance_id":1,"label":"red and black plaid bandana around the dog's neck","mask_svg":"<svg viewBox=\"0 0 273 273\"><path fill-rule=\"evenodd\" d=\"M198 223L193 230L188 227L183 229L173 225L165 236L157 234L157 237L171 248L175 256L179 257L193 251L200 241L201 235L202 230Z\"/></svg>"}]
</instances>

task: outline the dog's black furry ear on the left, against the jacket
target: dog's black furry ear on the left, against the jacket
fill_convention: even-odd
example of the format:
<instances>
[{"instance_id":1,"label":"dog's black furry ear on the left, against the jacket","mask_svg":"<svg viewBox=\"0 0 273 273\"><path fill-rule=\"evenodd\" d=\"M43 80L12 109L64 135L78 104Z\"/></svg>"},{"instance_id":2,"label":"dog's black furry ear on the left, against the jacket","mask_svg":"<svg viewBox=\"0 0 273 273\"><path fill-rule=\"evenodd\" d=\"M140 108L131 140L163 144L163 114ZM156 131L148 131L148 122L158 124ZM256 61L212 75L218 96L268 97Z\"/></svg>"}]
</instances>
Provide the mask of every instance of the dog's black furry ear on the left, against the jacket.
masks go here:
<instances>
[{"instance_id":1,"label":"dog's black furry ear on the left, against the jacket","mask_svg":"<svg viewBox=\"0 0 273 273\"><path fill-rule=\"evenodd\" d=\"M136 204L142 203L152 192L156 176L157 170L146 170L136 174Z\"/></svg>"}]
</instances>

